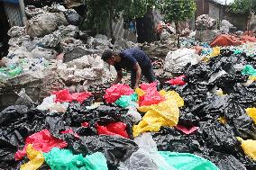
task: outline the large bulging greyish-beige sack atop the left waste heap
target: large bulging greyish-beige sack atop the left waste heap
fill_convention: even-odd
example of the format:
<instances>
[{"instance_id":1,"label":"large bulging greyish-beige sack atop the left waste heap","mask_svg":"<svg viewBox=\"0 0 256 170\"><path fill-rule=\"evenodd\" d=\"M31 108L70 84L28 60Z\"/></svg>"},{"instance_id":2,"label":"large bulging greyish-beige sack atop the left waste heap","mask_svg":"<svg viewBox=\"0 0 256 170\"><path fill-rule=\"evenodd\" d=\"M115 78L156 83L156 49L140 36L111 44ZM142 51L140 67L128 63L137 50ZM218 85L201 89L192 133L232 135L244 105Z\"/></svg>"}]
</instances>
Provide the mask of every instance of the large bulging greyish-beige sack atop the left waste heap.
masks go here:
<instances>
[{"instance_id":1,"label":"large bulging greyish-beige sack atop the left waste heap","mask_svg":"<svg viewBox=\"0 0 256 170\"><path fill-rule=\"evenodd\" d=\"M63 13L41 13L27 22L26 33L32 38L42 37L56 31L60 25L68 25Z\"/></svg>"}]
</instances>

